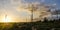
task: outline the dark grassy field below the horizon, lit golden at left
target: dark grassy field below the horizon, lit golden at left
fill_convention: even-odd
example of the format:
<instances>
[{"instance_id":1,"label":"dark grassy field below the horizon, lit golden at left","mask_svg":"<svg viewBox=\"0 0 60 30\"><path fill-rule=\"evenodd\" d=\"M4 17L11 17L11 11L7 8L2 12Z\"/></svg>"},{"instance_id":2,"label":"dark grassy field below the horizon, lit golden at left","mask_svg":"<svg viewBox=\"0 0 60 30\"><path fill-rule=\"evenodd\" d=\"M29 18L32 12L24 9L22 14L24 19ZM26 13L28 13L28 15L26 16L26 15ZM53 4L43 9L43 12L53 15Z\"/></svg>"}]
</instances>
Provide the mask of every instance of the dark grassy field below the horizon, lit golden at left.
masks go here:
<instances>
[{"instance_id":1,"label":"dark grassy field below the horizon, lit golden at left","mask_svg":"<svg viewBox=\"0 0 60 30\"><path fill-rule=\"evenodd\" d=\"M0 23L0 30L60 30L60 21Z\"/></svg>"}]
</instances>

